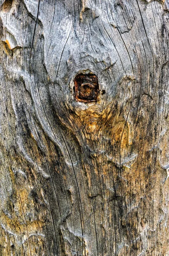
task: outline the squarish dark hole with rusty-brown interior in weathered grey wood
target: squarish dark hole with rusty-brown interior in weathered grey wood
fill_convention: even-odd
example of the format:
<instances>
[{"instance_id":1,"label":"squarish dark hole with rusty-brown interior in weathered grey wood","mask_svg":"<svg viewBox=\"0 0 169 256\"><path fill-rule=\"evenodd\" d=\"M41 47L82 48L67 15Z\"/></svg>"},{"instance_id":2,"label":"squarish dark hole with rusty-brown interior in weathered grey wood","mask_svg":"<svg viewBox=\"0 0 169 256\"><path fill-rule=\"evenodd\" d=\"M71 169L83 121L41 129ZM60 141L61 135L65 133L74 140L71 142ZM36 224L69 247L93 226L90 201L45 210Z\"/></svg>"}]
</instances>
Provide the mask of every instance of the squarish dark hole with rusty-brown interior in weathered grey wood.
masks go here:
<instances>
[{"instance_id":1,"label":"squarish dark hole with rusty-brown interior in weathered grey wood","mask_svg":"<svg viewBox=\"0 0 169 256\"><path fill-rule=\"evenodd\" d=\"M96 101L99 92L98 78L94 74L78 74L74 79L74 94L78 101Z\"/></svg>"}]
</instances>

